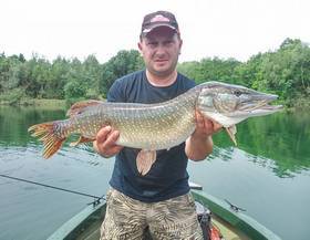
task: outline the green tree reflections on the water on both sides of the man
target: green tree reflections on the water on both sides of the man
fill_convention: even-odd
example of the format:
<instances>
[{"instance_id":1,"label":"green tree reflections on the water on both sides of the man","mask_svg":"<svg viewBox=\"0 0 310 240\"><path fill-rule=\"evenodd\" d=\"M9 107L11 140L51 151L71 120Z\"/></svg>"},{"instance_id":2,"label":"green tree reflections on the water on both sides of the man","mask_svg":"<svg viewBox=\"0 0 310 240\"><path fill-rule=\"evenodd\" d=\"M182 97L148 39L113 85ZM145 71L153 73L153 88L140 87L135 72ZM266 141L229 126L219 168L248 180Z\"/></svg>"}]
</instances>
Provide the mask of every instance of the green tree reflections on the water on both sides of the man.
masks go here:
<instances>
[{"instance_id":1,"label":"green tree reflections on the water on both sides of the man","mask_svg":"<svg viewBox=\"0 0 310 240\"><path fill-rule=\"evenodd\" d=\"M41 143L31 137L27 129L29 126L62 119L65 109L42 109L34 107L0 107L0 150L11 146L31 146ZM260 166L269 166L279 177L293 177L310 168L310 114L278 113L266 117L250 118L240 123L237 133L238 148L242 149L249 161ZM230 160L235 147L223 131L215 136L216 148L213 156L221 160ZM59 153L68 148L68 144ZM92 147L80 148L93 153ZM96 163L91 163L96 165Z\"/></svg>"}]
</instances>

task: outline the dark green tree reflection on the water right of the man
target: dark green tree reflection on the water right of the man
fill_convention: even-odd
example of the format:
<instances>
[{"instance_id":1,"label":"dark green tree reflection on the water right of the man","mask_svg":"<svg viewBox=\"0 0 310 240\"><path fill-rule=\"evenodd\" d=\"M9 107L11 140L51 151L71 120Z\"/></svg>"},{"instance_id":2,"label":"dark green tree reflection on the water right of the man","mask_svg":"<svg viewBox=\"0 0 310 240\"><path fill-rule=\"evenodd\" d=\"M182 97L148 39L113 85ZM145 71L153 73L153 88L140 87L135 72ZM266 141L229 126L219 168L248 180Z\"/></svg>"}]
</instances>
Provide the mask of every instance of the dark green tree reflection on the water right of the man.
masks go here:
<instances>
[{"instance_id":1,"label":"dark green tree reflection on the water right of the man","mask_svg":"<svg viewBox=\"0 0 310 240\"><path fill-rule=\"evenodd\" d=\"M248 160L272 166L270 169L279 177L293 177L310 168L310 114L279 113L250 118L238 125L237 142ZM228 136L218 134L215 144L221 150L214 155L229 160L232 144Z\"/></svg>"}]
</instances>

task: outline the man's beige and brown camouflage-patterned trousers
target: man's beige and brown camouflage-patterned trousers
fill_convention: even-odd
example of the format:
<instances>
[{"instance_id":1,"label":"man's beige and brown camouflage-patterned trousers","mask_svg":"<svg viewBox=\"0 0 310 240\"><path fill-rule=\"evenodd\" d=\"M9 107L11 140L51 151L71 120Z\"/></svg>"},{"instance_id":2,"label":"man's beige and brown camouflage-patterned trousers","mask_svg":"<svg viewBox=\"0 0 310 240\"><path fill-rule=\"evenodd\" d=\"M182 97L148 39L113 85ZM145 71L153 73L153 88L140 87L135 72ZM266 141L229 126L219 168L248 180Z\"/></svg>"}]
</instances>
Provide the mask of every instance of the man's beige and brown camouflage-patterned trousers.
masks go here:
<instances>
[{"instance_id":1,"label":"man's beige and brown camouflage-patterned trousers","mask_svg":"<svg viewBox=\"0 0 310 240\"><path fill-rule=\"evenodd\" d=\"M112 188L106 201L101 240L145 240L147 227L154 240L203 240L192 194L148 204Z\"/></svg>"}]
</instances>

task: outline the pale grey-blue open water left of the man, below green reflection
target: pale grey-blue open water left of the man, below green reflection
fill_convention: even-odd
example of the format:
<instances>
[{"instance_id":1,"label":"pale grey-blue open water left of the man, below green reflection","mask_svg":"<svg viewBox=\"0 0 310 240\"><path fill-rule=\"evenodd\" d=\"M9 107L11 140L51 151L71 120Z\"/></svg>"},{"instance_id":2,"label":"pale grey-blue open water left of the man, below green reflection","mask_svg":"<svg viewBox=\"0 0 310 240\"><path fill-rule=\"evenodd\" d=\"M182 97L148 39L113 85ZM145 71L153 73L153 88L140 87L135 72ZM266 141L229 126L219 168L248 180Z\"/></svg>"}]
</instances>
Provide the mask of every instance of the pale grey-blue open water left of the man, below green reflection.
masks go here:
<instances>
[{"instance_id":1,"label":"pale grey-blue open water left of the man, below green reflection","mask_svg":"<svg viewBox=\"0 0 310 240\"><path fill-rule=\"evenodd\" d=\"M1 174L95 196L106 192L112 160L92 157L80 148L61 149L44 160L40 150L33 144L0 145ZM0 239L46 239L93 200L6 178L0 178Z\"/></svg>"}]
</instances>

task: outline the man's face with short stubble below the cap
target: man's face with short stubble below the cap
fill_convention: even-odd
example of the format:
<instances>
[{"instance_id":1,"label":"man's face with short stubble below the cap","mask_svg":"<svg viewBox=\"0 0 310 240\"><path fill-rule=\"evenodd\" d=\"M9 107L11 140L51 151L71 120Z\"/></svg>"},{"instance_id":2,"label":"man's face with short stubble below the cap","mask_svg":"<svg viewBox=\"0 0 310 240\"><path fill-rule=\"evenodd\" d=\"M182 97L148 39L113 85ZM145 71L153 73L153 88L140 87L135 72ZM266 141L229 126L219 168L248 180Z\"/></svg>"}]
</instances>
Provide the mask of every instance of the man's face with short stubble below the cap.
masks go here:
<instances>
[{"instance_id":1,"label":"man's face with short stubble below the cap","mask_svg":"<svg viewBox=\"0 0 310 240\"><path fill-rule=\"evenodd\" d=\"M167 27L158 27L142 38L138 49L146 69L155 75L165 76L175 71L182 40Z\"/></svg>"}]
</instances>

